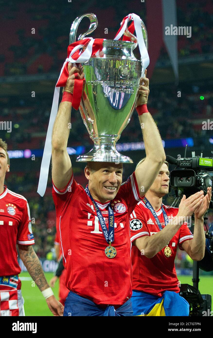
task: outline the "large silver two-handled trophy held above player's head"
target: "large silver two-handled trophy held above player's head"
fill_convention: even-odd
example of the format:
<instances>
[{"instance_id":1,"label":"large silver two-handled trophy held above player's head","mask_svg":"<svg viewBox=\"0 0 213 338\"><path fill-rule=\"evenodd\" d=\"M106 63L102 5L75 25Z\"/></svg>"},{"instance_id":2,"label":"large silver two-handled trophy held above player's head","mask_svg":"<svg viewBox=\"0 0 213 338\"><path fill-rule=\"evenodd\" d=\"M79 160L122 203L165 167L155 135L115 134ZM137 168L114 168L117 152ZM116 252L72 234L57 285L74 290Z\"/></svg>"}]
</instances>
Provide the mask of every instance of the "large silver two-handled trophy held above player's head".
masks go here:
<instances>
[{"instance_id":1,"label":"large silver two-handled trophy held above player's head","mask_svg":"<svg viewBox=\"0 0 213 338\"><path fill-rule=\"evenodd\" d=\"M144 40L140 41L140 44L134 16L138 20L137 29L140 31L141 40ZM70 44L75 42L78 25L85 17L90 19L90 27L78 40L83 40L97 27L98 21L94 14L76 18L71 26ZM127 28L129 20L134 20L137 37ZM122 34L130 41L103 39L101 48L83 64L87 98L81 99L79 110L94 147L87 154L78 156L77 162L133 163L129 157L117 151L116 142L129 123L136 106L140 77L149 63L148 40L146 27L138 16L129 15L125 24L126 28ZM118 33L116 37L119 38ZM140 52L142 48L145 49L145 62L142 55L141 60L138 60L133 54L138 44Z\"/></svg>"}]
</instances>

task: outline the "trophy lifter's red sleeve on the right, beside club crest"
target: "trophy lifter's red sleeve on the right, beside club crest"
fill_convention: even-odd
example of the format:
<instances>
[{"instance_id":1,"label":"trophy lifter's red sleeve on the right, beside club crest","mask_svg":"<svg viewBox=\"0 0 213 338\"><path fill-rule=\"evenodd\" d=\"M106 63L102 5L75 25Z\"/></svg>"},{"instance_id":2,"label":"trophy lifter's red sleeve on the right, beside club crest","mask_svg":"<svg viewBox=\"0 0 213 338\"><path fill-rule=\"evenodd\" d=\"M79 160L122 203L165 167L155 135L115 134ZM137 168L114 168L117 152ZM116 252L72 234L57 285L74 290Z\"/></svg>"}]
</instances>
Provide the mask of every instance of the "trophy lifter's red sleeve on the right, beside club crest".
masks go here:
<instances>
[{"instance_id":1,"label":"trophy lifter's red sleeve on the right, beside club crest","mask_svg":"<svg viewBox=\"0 0 213 338\"><path fill-rule=\"evenodd\" d=\"M137 203L144 197L140 197L135 172L133 172L132 175L128 177L127 181L120 186L119 195L125 200L129 214L131 214Z\"/></svg>"}]
</instances>

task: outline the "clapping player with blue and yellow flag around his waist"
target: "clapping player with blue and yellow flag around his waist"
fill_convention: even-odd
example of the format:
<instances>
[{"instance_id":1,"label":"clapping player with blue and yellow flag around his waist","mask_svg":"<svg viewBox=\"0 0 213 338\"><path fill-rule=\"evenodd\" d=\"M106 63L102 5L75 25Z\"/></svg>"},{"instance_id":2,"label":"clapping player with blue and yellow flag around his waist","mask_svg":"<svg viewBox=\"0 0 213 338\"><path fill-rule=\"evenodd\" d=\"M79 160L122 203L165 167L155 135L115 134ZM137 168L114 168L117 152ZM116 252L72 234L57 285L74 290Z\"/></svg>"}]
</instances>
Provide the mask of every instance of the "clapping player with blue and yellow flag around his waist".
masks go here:
<instances>
[{"instance_id":1,"label":"clapping player with blue and yellow flag around his waist","mask_svg":"<svg viewBox=\"0 0 213 338\"><path fill-rule=\"evenodd\" d=\"M141 160L137 167L146 159ZM165 206L169 191L168 162L130 217L135 316L188 316L189 304L179 295L174 259L179 246L195 261L204 257L204 215L209 209L211 188L183 198L179 208ZM187 223L194 213L194 236Z\"/></svg>"}]
</instances>

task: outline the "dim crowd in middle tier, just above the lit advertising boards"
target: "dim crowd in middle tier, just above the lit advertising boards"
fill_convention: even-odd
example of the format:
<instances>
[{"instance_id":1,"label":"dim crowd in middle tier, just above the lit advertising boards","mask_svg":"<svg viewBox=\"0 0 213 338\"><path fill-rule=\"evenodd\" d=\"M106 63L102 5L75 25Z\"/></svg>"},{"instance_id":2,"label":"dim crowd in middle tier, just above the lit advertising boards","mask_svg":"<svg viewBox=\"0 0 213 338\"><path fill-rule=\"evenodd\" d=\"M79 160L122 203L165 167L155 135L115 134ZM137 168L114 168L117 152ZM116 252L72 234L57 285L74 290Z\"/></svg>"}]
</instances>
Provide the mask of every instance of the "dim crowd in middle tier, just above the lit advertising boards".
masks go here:
<instances>
[{"instance_id":1,"label":"dim crowd in middle tier, just above the lit advertising boards","mask_svg":"<svg viewBox=\"0 0 213 338\"><path fill-rule=\"evenodd\" d=\"M200 139L209 142L211 130L202 129L202 121L212 116L213 92L209 84L192 86L191 90L180 88L181 97L177 90L165 88L159 91L150 86L149 110L155 119L163 139L178 139L192 137L200 144ZM200 93L205 99L200 100ZM175 99L176 98L176 99ZM34 100L34 101L33 101ZM1 121L11 121L12 132L1 131L2 137L8 142L8 149L42 149L44 147L46 131L49 122L52 97L7 99L0 108ZM169 123L168 123L169 119ZM86 127L83 125L79 111L72 110L72 132L70 146L92 145ZM131 121L122 132L119 142L140 142L141 131L137 114L133 114Z\"/></svg>"}]
</instances>

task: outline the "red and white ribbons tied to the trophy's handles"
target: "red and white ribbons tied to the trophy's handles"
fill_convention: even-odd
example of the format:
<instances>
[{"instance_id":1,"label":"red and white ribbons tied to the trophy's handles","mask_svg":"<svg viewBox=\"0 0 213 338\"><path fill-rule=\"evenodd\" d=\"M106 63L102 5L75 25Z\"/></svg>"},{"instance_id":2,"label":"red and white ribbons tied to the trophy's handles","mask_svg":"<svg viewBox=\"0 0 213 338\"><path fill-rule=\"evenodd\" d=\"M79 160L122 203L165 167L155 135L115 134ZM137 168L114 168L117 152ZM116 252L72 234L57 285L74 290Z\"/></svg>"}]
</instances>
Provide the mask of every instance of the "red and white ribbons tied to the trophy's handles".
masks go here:
<instances>
[{"instance_id":1,"label":"red and white ribbons tied to the trophy's handles","mask_svg":"<svg viewBox=\"0 0 213 338\"><path fill-rule=\"evenodd\" d=\"M142 69L142 76L143 76L144 71L149 64L149 56L148 56L148 52L146 50L146 46L145 46L145 43L144 43L144 40L143 40L140 17L138 15L134 14L134 13L126 16L123 19L121 27L118 30L114 40L119 40L122 37L122 35L123 35L123 33L124 33L124 31L127 27L128 19L131 19L131 20L134 21L134 26L132 25L132 29L133 29L133 27L135 27L136 37L138 39L139 50L140 50L140 53L141 53L141 61L142 61L142 65L143 65L143 69ZM125 37L125 38L126 38L125 40L128 40L127 37ZM86 46L85 50L80 53L80 49L85 47L85 46ZM61 72L60 72L60 75L58 77L58 80L57 80L57 83L56 83L56 86L55 86L55 90L54 90L52 108L51 108L51 113L50 113L50 120L49 120L48 129L47 129L47 136L46 136L44 153L43 153L43 158L42 158L42 163L41 163L39 185L38 185L38 190L37 190L37 192L41 196L44 196L44 193L45 193L46 187L47 187L47 179L48 179L50 159L51 159L51 150L52 150L51 149L52 129L53 129L53 124L54 124L54 121L55 121L55 118L56 118L56 115L57 115L57 111L58 111L58 100L59 100L59 94L60 94L60 87L66 86L67 79L68 79L68 76L69 76L68 63L69 62L72 63L72 64L86 63L86 62L89 61L89 59L92 55L95 55L102 48L103 48L103 39L92 39L92 38L86 38L84 40L76 41L76 42L70 44L67 48L67 58L66 58L66 61L64 62L64 65L61 69ZM75 98L74 98L74 95L73 95L72 106L76 110L78 109L79 104L80 104L80 98L81 98L81 92L82 92L82 86L83 86L84 80L75 79L74 92L76 94L75 94ZM81 88L81 90L80 90L80 88Z\"/></svg>"}]
</instances>

